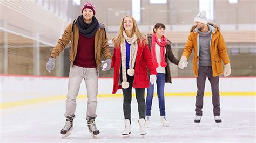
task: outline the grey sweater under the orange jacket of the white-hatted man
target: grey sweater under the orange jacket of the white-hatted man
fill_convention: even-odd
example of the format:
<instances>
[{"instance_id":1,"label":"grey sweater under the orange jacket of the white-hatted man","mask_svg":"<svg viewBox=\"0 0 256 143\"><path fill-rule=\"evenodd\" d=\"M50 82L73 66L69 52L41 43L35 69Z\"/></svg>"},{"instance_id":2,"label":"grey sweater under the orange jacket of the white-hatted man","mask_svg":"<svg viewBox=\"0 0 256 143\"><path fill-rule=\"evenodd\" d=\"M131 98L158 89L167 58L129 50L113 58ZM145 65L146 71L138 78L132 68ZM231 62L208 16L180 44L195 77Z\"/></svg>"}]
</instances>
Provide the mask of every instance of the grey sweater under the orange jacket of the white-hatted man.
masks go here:
<instances>
[{"instance_id":1,"label":"grey sweater under the orange jacket of the white-hatted man","mask_svg":"<svg viewBox=\"0 0 256 143\"><path fill-rule=\"evenodd\" d=\"M210 54L210 41L212 30L204 33L199 30L200 52L199 52L199 66L212 66Z\"/></svg>"}]
</instances>

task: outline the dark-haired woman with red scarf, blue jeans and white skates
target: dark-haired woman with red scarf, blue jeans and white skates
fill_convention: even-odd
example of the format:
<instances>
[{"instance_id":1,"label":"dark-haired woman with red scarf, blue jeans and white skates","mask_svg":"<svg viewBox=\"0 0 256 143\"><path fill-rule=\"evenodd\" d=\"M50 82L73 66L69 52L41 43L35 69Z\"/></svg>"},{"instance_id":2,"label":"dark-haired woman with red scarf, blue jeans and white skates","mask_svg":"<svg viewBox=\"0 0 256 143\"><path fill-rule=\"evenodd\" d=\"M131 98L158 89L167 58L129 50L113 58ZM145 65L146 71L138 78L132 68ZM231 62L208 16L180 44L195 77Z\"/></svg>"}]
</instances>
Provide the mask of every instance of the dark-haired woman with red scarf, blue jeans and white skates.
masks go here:
<instances>
[{"instance_id":1,"label":"dark-haired woman with red scarf, blue jeans and white skates","mask_svg":"<svg viewBox=\"0 0 256 143\"><path fill-rule=\"evenodd\" d=\"M148 46L151 50L153 65L157 70L157 95L160 109L160 121L163 126L169 127L169 121L165 116L164 86L166 83L172 83L171 72L168 60L178 66L179 60L175 58L171 49L171 41L165 36L165 25L157 23L154 25L153 34L148 34ZM150 125L151 106L154 94L154 84L147 88L146 98L146 126Z\"/></svg>"}]
</instances>

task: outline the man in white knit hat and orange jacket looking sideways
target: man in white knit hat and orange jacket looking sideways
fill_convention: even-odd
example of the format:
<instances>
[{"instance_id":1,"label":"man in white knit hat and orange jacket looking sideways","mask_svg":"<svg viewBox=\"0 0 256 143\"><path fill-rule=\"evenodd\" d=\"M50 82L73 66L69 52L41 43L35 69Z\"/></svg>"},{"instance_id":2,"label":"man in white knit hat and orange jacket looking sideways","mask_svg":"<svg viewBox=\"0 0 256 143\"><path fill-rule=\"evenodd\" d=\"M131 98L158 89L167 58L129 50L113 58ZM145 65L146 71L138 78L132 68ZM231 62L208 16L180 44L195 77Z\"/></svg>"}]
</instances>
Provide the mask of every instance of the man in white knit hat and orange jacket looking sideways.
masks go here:
<instances>
[{"instance_id":1,"label":"man in white knit hat and orange jacket looking sideways","mask_svg":"<svg viewBox=\"0 0 256 143\"><path fill-rule=\"evenodd\" d=\"M194 18L194 26L190 31L188 40L181 56L179 67L187 67L187 59L194 50L193 71L197 77L196 117L194 122L200 123L203 115L203 98L205 80L211 83L213 114L216 123L220 118L219 75L231 74L230 59L228 58L226 44L218 25L207 23L206 11L199 12ZM221 61L224 62L224 71Z\"/></svg>"}]
</instances>

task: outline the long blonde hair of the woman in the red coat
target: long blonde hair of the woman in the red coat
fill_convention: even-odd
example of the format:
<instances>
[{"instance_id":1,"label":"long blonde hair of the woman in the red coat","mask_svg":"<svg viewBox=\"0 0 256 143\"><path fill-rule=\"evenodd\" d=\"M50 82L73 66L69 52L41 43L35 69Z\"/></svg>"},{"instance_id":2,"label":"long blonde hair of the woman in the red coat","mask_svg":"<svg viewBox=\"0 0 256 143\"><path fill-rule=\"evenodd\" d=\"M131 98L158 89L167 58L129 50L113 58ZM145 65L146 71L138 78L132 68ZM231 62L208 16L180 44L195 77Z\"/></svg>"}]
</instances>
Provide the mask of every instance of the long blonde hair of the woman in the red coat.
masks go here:
<instances>
[{"instance_id":1,"label":"long blonde hair of the woman in the red coat","mask_svg":"<svg viewBox=\"0 0 256 143\"><path fill-rule=\"evenodd\" d=\"M139 41L139 46L142 46L143 42L146 42L145 44L147 44L147 39L146 39L145 35L140 33L140 31L138 29L138 25L136 23L136 20L132 16L126 15L126 16L123 17L123 19L121 21L117 36L112 39L114 47L115 48L120 47L120 44L122 44L122 42L123 42L123 39L124 39L123 31L125 30L124 29L124 18L126 18L126 17L130 17L132 19L132 22L133 22L132 35L131 36L133 36L134 34L137 36L137 41Z\"/></svg>"}]
</instances>

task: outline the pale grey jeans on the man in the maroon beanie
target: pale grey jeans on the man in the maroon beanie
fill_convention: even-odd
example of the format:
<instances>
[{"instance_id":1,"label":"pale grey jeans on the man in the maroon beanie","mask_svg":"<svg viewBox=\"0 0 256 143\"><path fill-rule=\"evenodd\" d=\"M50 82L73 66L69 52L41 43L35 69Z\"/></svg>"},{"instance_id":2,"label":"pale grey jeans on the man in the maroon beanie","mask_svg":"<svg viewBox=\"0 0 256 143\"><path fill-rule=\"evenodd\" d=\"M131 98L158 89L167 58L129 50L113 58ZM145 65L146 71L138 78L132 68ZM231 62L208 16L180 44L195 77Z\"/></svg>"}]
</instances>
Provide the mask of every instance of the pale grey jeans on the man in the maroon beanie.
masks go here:
<instances>
[{"instance_id":1,"label":"pale grey jeans on the man in the maroon beanie","mask_svg":"<svg viewBox=\"0 0 256 143\"><path fill-rule=\"evenodd\" d=\"M76 98L82 80L85 81L88 98L86 119L89 117L97 117L98 71L96 68L83 68L76 65L71 67L69 72L68 95L66 96L66 117L73 115L76 111Z\"/></svg>"}]
</instances>

